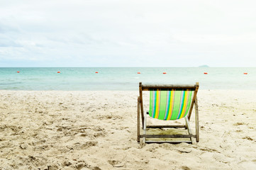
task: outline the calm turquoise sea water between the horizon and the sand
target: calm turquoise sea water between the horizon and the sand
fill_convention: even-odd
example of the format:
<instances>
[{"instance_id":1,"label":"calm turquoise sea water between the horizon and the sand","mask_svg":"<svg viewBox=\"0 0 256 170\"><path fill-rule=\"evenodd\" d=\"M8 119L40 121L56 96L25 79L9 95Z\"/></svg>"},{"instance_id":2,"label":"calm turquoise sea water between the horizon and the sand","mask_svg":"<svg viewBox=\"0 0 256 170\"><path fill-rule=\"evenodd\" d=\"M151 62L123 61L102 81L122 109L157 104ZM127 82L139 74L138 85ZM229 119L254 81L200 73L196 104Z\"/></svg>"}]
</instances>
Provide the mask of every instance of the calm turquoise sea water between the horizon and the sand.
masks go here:
<instances>
[{"instance_id":1,"label":"calm turquoise sea water between the horizon and the sand","mask_svg":"<svg viewBox=\"0 0 256 170\"><path fill-rule=\"evenodd\" d=\"M199 81L200 89L256 90L256 68L0 68L0 89L4 90L138 90L140 81L143 84Z\"/></svg>"}]
</instances>

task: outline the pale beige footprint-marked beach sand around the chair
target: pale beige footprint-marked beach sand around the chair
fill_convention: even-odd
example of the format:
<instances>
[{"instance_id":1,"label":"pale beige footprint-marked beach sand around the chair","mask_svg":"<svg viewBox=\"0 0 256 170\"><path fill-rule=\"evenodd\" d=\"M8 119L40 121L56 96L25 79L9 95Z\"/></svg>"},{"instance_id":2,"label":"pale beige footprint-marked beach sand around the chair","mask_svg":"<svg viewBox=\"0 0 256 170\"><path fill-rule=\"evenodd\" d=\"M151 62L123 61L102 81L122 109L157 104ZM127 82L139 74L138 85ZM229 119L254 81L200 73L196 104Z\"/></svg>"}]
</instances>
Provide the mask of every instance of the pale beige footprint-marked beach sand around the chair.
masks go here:
<instances>
[{"instance_id":1,"label":"pale beige footprint-marked beach sand around the chair","mask_svg":"<svg viewBox=\"0 0 256 170\"><path fill-rule=\"evenodd\" d=\"M199 90L193 145L139 144L137 96L0 91L0 169L256 169L256 91Z\"/></svg>"}]
</instances>

